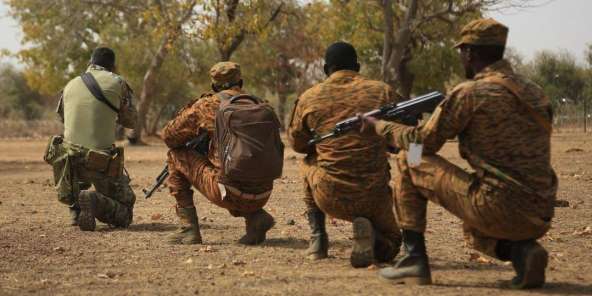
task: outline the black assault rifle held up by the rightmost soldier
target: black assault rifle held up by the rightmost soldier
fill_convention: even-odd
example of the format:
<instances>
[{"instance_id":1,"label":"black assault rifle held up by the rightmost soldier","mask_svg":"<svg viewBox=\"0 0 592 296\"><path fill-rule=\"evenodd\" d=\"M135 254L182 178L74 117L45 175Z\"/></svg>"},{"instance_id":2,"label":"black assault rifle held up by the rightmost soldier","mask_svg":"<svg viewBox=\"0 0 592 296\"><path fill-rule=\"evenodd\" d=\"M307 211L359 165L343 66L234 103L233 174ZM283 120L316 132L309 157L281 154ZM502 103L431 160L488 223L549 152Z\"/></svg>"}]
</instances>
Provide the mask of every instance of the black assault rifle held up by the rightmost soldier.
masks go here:
<instances>
[{"instance_id":1,"label":"black assault rifle held up by the rightmost soldier","mask_svg":"<svg viewBox=\"0 0 592 296\"><path fill-rule=\"evenodd\" d=\"M429 94L413 98L398 104L389 104L378 109L364 113L364 116L376 117L385 120L398 121L415 121L422 113L433 112L436 106L444 99L444 95L440 92L431 92ZM346 120L338 122L335 127L327 134L315 134L314 138L308 141L308 145L316 145L328 138L338 137L360 125L360 118L357 116L350 117Z\"/></svg>"}]
</instances>

